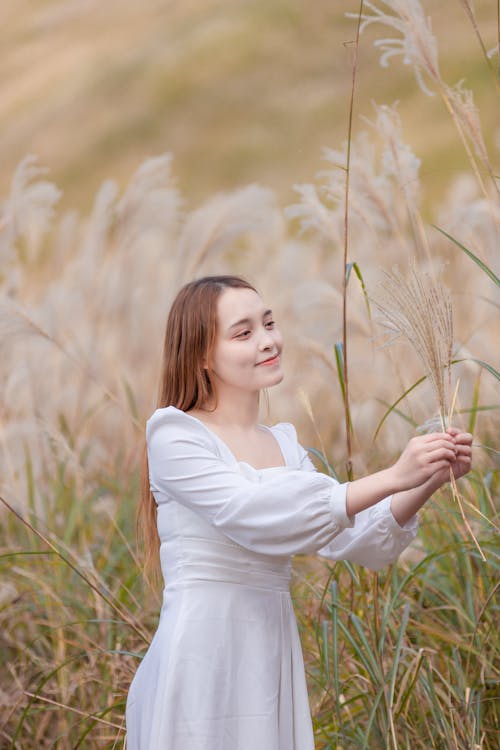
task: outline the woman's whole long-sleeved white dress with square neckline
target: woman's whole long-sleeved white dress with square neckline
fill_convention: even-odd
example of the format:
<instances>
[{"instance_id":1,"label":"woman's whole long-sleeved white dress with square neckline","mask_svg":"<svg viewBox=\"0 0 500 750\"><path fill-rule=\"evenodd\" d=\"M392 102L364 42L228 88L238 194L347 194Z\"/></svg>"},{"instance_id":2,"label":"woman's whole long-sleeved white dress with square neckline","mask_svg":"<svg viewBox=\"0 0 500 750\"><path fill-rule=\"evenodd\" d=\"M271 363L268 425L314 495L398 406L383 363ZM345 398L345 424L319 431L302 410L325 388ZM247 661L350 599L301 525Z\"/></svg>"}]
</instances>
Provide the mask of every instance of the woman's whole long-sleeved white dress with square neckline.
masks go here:
<instances>
[{"instance_id":1,"label":"woman's whole long-sleeved white dress with square neckline","mask_svg":"<svg viewBox=\"0 0 500 750\"><path fill-rule=\"evenodd\" d=\"M390 497L353 522L347 484L316 471L293 425L267 429L285 466L238 461L173 406L147 422L165 588L128 693L127 750L313 750L291 556L379 569L416 534Z\"/></svg>"}]
</instances>

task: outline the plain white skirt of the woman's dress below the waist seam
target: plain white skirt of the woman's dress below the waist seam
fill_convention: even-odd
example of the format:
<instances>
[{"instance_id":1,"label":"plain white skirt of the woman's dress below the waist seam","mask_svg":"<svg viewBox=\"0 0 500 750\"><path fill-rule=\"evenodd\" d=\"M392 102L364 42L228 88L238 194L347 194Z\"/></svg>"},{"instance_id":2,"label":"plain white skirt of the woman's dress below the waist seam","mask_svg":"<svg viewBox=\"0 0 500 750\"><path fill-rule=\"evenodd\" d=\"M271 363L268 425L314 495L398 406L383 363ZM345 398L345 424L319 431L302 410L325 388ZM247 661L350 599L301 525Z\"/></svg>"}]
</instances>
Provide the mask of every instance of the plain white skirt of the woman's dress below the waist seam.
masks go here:
<instances>
[{"instance_id":1,"label":"plain white skirt of the woman's dress below the waist seam","mask_svg":"<svg viewBox=\"0 0 500 750\"><path fill-rule=\"evenodd\" d=\"M127 750L314 749L297 624L279 581L165 588L128 694Z\"/></svg>"}]
</instances>

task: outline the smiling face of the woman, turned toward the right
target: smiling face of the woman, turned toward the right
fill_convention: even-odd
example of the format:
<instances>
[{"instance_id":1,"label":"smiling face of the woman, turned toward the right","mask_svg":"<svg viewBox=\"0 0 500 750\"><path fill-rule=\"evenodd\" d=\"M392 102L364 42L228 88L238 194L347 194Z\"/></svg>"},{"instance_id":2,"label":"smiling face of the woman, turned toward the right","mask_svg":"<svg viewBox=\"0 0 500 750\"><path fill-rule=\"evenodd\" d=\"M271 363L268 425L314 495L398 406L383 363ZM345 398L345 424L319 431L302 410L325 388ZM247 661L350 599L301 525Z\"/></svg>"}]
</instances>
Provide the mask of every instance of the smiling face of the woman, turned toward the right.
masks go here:
<instances>
[{"instance_id":1,"label":"smiling face of the woman, turned toward the right","mask_svg":"<svg viewBox=\"0 0 500 750\"><path fill-rule=\"evenodd\" d=\"M283 340L257 292L233 288L221 292L217 326L212 370L219 391L226 386L254 392L283 380Z\"/></svg>"}]
</instances>

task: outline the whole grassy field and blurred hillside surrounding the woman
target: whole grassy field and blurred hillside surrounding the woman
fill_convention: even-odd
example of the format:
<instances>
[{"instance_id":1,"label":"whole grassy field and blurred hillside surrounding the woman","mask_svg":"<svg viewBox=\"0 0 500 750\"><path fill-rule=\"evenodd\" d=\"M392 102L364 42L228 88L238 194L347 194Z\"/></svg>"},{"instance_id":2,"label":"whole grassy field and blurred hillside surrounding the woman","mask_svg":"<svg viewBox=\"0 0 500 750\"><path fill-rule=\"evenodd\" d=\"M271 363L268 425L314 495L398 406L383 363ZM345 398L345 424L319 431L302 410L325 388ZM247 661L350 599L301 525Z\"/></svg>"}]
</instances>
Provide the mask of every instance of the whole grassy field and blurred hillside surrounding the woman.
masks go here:
<instances>
[{"instance_id":1,"label":"whole grassy field and blurred hillside surrounding the woman","mask_svg":"<svg viewBox=\"0 0 500 750\"><path fill-rule=\"evenodd\" d=\"M452 421L474 468L387 570L296 559L316 743L496 750L500 89L480 41L493 49L498 9L475 3L479 39L467 8L424 3L434 77L409 42L408 64L380 67L372 43L398 33L363 30L348 138L357 3L2 4L0 747L123 747L161 601L134 513L179 285L257 285L285 339L262 421L296 424L345 481L436 414L374 305L381 271L416 261L451 295Z\"/></svg>"}]
</instances>

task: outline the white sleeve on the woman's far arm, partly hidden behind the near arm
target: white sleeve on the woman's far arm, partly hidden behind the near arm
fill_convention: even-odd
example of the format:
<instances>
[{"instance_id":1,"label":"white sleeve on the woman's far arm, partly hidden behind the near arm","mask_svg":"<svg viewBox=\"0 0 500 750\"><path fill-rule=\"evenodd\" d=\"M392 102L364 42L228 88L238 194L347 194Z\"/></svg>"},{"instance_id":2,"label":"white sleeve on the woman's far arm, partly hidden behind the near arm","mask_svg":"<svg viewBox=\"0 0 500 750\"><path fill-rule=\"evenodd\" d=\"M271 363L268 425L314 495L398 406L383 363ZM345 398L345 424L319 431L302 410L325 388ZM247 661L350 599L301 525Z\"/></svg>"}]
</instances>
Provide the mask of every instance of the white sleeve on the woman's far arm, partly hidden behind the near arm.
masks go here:
<instances>
[{"instance_id":1,"label":"white sleeve on the woman's far arm, partly hidden behind the near arm","mask_svg":"<svg viewBox=\"0 0 500 750\"><path fill-rule=\"evenodd\" d=\"M307 451L298 444L299 461L304 471L316 468ZM331 560L349 560L371 570L380 570L394 562L415 538L418 531L417 516L400 526L391 511L392 495L371 508L357 513L354 526L344 529L318 554Z\"/></svg>"}]
</instances>

